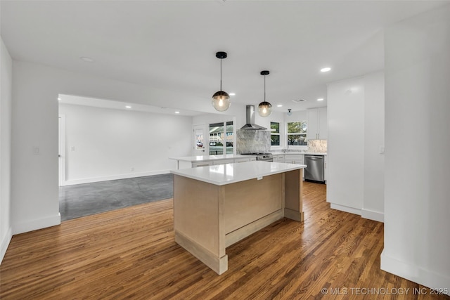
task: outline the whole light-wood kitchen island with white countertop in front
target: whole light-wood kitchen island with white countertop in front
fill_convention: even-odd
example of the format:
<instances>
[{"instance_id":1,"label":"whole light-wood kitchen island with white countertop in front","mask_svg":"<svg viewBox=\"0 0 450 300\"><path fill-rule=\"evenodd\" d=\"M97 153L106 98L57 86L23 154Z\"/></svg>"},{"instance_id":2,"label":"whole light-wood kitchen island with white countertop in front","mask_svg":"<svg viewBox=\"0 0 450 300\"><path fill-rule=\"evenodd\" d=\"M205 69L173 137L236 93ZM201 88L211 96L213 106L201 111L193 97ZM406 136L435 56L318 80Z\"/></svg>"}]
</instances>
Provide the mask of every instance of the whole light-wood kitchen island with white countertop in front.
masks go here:
<instances>
[{"instance_id":1,"label":"whole light-wood kitchen island with white countertop in front","mask_svg":"<svg viewBox=\"0 0 450 300\"><path fill-rule=\"evenodd\" d=\"M175 241L224 273L226 247L283 217L304 220L304 167L252 161L172 170Z\"/></svg>"}]
</instances>

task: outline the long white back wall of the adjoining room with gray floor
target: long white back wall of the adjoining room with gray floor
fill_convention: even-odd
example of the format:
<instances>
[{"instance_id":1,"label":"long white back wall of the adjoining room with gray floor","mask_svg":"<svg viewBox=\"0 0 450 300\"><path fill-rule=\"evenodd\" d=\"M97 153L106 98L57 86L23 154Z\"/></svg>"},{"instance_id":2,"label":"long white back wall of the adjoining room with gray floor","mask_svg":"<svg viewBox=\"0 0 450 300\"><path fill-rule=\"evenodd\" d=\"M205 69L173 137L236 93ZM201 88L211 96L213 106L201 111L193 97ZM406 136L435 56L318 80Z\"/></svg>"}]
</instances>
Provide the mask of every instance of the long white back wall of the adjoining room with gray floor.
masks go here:
<instances>
[{"instance_id":1,"label":"long white back wall of the adjoining room with gray floor","mask_svg":"<svg viewBox=\"0 0 450 300\"><path fill-rule=\"evenodd\" d=\"M63 185L165 174L169 157L191 155L192 117L84 105L59 105L65 115Z\"/></svg>"}]
</instances>

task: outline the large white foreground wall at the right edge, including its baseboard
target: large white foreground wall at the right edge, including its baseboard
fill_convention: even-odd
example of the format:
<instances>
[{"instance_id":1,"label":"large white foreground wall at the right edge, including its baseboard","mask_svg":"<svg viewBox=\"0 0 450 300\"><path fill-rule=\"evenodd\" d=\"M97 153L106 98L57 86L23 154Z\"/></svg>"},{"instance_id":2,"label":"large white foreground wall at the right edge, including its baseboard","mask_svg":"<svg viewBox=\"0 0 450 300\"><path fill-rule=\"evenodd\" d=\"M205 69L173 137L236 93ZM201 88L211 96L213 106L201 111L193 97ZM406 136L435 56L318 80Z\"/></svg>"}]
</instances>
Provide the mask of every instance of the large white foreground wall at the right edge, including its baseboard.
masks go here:
<instances>
[{"instance_id":1,"label":"large white foreground wall at the right edge, including its baseboard","mask_svg":"<svg viewBox=\"0 0 450 300\"><path fill-rule=\"evenodd\" d=\"M385 30L381 268L450 290L450 6Z\"/></svg>"}]
</instances>

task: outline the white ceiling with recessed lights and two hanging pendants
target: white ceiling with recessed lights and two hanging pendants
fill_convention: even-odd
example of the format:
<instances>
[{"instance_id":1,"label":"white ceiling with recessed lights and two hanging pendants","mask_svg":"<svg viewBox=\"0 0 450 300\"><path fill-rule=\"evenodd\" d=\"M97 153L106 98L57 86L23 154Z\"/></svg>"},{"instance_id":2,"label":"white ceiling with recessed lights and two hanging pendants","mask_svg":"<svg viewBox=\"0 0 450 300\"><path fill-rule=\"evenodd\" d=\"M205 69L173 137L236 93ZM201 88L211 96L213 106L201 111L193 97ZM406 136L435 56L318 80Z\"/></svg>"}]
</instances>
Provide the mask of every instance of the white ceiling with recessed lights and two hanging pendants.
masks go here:
<instances>
[{"instance_id":1,"label":"white ceiling with recessed lights and two hanging pendants","mask_svg":"<svg viewBox=\"0 0 450 300\"><path fill-rule=\"evenodd\" d=\"M269 70L266 100L286 112L326 106L328 82L383 70L383 28L444 4L1 1L1 36L15 60L182 92L180 108L189 98L210 105L220 82L215 53L225 51L223 89L236 93L232 103L262 102L259 72Z\"/></svg>"}]
</instances>

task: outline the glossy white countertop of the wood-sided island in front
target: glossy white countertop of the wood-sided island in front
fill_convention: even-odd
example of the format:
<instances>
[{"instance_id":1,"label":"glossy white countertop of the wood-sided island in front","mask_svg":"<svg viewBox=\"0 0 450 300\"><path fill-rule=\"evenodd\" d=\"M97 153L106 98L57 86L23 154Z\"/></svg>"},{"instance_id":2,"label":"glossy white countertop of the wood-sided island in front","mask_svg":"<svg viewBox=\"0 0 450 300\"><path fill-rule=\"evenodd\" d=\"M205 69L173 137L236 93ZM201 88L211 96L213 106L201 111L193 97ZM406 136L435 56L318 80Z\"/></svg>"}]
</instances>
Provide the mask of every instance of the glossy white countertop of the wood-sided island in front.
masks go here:
<instances>
[{"instance_id":1,"label":"glossy white countertop of the wood-sided island in front","mask_svg":"<svg viewBox=\"0 0 450 300\"><path fill-rule=\"evenodd\" d=\"M243 155L248 156L248 155ZM283 162L240 162L234 164L219 164L191 169L171 170L172 174L205 181L215 185L226 185L253 178L304 169L305 164L285 164Z\"/></svg>"}]
</instances>

